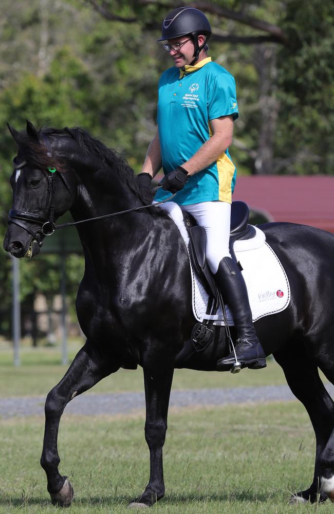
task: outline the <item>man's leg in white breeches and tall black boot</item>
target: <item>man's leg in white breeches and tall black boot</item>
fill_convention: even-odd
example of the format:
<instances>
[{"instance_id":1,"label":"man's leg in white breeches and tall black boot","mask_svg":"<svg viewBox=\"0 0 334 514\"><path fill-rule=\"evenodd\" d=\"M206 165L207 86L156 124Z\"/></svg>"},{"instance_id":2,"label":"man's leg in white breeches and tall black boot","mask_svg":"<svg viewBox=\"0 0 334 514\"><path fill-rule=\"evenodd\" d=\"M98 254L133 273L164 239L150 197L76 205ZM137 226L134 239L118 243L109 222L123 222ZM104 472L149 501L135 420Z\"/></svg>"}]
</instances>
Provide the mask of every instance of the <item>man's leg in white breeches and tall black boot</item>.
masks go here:
<instances>
[{"instance_id":1,"label":"man's leg in white breeches and tall black boot","mask_svg":"<svg viewBox=\"0 0 334 514\"><path fill-rule=\"evenodd\" d=\"M231 205L222 201L207 201L181 206L192 214L207 234L207 261L216 284L226 299L237 330L237 359L254 369L266 366L266 356L259 343L252 320L247 287L238 265L229 250ZM231 368L234 353L217 362L218 369Z\"/></svg>"}]
</instances>

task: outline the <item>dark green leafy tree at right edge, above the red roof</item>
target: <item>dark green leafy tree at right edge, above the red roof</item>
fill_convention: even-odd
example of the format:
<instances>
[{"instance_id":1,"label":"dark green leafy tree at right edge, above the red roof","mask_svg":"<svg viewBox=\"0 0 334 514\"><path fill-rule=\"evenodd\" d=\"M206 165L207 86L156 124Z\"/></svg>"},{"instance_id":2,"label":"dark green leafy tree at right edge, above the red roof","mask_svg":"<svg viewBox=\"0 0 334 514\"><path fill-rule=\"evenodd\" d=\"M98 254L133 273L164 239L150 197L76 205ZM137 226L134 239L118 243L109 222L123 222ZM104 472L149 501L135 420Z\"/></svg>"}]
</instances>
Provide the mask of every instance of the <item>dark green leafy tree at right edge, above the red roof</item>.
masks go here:
<instances>
[{"instance_id":1,"label":"dark green leafy tree at right edge, above the red roof","mask_svg":"<svg viewBox=\"0 0 334 514\"><path fill-rule=\"evenodd\" d=\"M278 142L286 156L303 157L297 173L333 173L333 23L332 2L287 3L283 26L290 46L280 50L277 62L282 130L290 137Z\"/></svg>"}]
</instances>

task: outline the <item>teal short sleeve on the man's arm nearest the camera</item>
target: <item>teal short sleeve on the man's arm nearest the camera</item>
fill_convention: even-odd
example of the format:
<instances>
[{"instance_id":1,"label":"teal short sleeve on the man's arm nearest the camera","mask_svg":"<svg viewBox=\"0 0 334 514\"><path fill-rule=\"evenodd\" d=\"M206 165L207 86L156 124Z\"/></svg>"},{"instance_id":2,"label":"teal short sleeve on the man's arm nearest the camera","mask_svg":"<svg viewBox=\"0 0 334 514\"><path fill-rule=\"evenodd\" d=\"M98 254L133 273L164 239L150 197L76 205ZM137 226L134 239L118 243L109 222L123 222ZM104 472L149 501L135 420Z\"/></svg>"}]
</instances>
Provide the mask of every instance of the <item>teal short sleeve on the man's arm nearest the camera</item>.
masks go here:
<instances>
[{"instance_id":1,"label":"teal short sleeve on the man's arm nearest the camera","mask_svg":"<svg viewBox=\"0 0 334 514\"><path fill-rule=\"evenodd\" d=\"M208 93L209 121L220 116L233 116L233 121L239 117L236 101L235 81L232 75L220 73L211 83Z\"/></svg>"}]
</instances>

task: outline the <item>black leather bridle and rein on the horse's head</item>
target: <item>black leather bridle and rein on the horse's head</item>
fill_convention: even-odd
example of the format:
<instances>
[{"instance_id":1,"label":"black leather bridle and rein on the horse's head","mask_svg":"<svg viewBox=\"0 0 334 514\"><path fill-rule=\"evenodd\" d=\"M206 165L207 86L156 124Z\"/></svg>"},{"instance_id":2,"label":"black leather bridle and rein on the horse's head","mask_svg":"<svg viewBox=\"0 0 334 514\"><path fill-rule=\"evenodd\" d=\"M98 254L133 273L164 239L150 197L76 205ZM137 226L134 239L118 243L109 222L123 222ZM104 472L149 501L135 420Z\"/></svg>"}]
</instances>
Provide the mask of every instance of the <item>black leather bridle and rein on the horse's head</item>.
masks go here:
<instances>
[{"instance_id":1,"label":"black leather bridle and rein on the horse's head","mask_svg":"<svg viewBox=\"0 0 334 514\"><path fill-rule=\"evenodd\" d=\"M41 137L47 148L47 156L52 157L53 154L52 154L51 145L50 145L50 141L49 141L48 137L43 134L41 134ZM15 159L13 160L14 170L21 170L26 164L27 164L26 161L22 161L19 164L16 164ZM46 198L46 206L45 206L45 211L48 211L48 217L46 218L44 216L41 216L40 214L35 214L33 212L27 212L27 211L18 211L15 209L11 209L8 214L8 223L14 223L15 225L17 225L17 226L23 228L24 230L26 230L27 232L29 232L29 234L32 235L33 240L36 241L36 243L38 243L39 246L42 246L42 244L43 244L41 241L42 235L44 235L44 236L52 235L55 230L58 230L60 228L71 227L73 225L79 225L80 223L98 221L98 219L105 219L105 218L109 218L109 217L113 217L113 216L119 216L121 214L139 211L140 209L147 209L147 208L153 207L153 206L156 207L160 204L164 204L165 201L171 200L176 195L176 193L174 193L169 198L166 198L165 200L162 200L162 201L158 201L155 204L143 205L141 207L133 207L132 209L127 209L125 211L113 212L110 214L104 214L102 216L96 216L93 218L81 219L78 222L72 222L72 223L70 222L70 223L63 223L60 225L55 225L55 223L53 222L54 208L55 208L54 194L55 194L55 190L56 190L55 176L59 176L61 178L61 180L63 181L69 194L72 197L73 197L73 195L70 190L69 184L67 183L66 178L64 177L64 173L59 173L54 168L52 168L52 169L49 168L48 171L49 171L50 175L48 175L48 177L47 177L48 178L48 190L47 190L47 198ZM157 189L160 189L161 187L162 186L157 186L157 187L153 188L153 191L156 191ZM30 227L28 227L26 225L25 222L40 225L41 228L39 230L33 231Z\"/></svg>"}]
</instances>

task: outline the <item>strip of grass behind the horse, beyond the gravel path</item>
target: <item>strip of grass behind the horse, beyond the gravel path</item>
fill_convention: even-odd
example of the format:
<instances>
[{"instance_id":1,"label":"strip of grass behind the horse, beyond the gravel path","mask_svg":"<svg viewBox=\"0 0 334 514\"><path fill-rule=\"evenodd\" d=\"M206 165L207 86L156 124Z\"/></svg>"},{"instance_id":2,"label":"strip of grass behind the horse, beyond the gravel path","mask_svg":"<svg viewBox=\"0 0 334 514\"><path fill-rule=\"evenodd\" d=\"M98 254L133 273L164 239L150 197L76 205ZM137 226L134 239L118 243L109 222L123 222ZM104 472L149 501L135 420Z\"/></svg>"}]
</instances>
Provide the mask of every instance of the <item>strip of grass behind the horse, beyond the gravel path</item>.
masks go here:
<instances>
[{"instance_id":1,"label":"strip of grass behind the horse, beyond the gravel path","mask_svg":"<svg viewBox=\"0 0 334 514\"><path fill-rule=\"evenodd\" d=\"M78 342L69 346L69 358L73 359L79 350ZM61 362L59 347L23 346L22 365L14 368L12 351L7 345L0 346L0 397L45 396L61 380L68 366ZM261 371L243 370L231 373L175 370L173 389L234 388L285 384L285 377L279 365L268 359L267 368ZM98 383L92 393L118 393L143 391L142 369L123 370L110 375ZM88 393L89 394L89 393Z\"/></svg>"}]
</instances>

